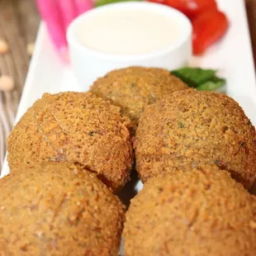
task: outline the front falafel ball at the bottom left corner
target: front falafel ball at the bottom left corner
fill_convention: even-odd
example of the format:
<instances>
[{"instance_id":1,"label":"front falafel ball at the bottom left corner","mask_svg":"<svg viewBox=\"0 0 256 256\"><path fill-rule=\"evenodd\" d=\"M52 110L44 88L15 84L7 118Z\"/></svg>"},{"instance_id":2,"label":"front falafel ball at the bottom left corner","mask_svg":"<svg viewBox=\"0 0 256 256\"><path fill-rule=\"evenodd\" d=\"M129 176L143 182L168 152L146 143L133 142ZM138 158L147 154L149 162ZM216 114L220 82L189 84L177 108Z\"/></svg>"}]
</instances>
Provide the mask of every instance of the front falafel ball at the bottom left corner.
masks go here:
<instances>
[{"instance_id":1,"label":"front falafel ball at the bottom left corner","mask_svg":"<svg viewBox=\"0 0 256 256\"><path fill-rule=\"evenodd\" d=\"M75 165L47 163L0 180L1 256L113 256L125 208Z\"/></svg>"}]
</instances>

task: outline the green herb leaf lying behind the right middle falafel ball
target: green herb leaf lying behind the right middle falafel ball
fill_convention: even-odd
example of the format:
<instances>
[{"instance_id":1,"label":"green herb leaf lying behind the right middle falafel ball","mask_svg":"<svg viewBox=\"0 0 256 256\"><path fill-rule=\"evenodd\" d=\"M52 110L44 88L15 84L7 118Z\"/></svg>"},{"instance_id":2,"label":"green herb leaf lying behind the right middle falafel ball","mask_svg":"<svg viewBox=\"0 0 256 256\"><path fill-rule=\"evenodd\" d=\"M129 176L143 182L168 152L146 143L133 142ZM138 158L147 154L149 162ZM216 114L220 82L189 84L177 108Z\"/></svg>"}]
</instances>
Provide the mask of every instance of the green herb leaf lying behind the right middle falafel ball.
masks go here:
<instances>
[{"instance_id":1,"label":"green herb leaf lying behind the right middle falafel ball","mask_svg":"<svg viewBox=\"0 0 256 256\"><path fill-rule=\"evenodd\" d=\"M173 70L171 73L187 83L188 87L200 91L215 91L225 85L225 79L217 77L215 69L185 67Z\"/></svg>"}]
</instances>

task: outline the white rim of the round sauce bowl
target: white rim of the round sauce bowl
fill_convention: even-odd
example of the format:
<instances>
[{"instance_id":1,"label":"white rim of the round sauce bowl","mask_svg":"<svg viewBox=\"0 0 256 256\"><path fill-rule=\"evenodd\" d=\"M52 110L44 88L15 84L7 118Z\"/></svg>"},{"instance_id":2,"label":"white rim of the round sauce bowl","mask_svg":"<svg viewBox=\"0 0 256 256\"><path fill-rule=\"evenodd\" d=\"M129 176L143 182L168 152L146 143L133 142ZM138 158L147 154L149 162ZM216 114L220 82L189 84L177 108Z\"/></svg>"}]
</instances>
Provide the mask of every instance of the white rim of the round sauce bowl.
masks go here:
<instances>
[{"instance_id":1,"label":"white rim of the round sauce bowl","mask_svg":"<svg viewBox=\"0 0 256 256\"><path fill-rule=\"evenodd\" d=\"M154 12L162 12L165 13L169 17L176 16L180 21L182 21L182 26L184 27L184 30L186 32L183 33L183 36L177 41L177 43L173 45L168 45L165 47L163 50L155 50L150 53L146 54L135 54L135 55L120 55L120 54L111 54L111 53L106 53L102 52L100 50L94 50L86 45L83 45L77 38L76 34L76 29L77 27L86 21L87 19L93 17L95 14L101 13L101 12L106 12L109 9L126 9L127 7L129 8L135 8L137 10L145 10L147 8L148 10L153 10ZM192 23L191 21L182 13L179 12L178 10L174 9L173 7L168 7L163 4L159 3L154 3L154 2L115 2L115 3L110 3L107 5L104 5L102 7L96 7L88 12L83 13L82 15L78 16L75 18L71 24L68 27L67 30L67 40L69 44L69 50L70 48L73 48L77 51L79 51L81 54L86 54L86 55L91 55L95 56L99 59L111 59L111 60L116 60L116 61L133 61L133 60L145 60L145 59L152 59L152 58L157 58L161 57L164 55L167 55L170 52L174 52L175 50L178 50L180 46L182 46L184 43L187 42L187 40L192 40Z\"/></svg>"}]
</instances>

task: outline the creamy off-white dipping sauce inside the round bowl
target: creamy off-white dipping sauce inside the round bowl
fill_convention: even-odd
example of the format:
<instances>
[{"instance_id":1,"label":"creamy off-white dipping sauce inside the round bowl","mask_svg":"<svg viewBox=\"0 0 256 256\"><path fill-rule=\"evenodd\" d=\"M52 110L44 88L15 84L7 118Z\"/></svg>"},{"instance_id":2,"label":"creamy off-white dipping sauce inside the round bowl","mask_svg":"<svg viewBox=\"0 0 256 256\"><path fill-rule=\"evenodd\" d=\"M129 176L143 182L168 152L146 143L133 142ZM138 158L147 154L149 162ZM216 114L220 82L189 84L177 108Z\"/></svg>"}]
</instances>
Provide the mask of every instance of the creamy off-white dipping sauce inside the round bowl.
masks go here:
<instances>
[{"instance_id":1,"label":"creamy off-white dipping sauce inside the round bowl","mask_svg":"<svg viewBox=\"0 0 256 256\"><path fill-rule=\"evenodd\" d=\"M114 55L143 55L175 45L180 22L152 10L110 9L84 21L76 30L88 48Z\"/></svg>"}]
</instances>

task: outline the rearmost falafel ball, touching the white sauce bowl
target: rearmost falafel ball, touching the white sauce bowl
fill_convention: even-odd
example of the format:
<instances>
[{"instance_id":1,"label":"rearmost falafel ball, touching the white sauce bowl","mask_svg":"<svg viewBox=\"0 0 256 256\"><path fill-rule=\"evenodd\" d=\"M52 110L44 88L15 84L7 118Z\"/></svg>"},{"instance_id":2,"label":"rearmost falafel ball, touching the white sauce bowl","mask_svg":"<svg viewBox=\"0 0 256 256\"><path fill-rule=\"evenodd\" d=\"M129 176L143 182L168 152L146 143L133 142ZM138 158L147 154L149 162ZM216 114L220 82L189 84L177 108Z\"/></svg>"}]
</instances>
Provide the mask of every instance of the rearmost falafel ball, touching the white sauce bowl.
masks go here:
<instances>
[{"instance_id":1,"label":"rearmost falafel ball, touching the white sauce bowl","mask_svg":"<svg viewBox=\"0 0 256 256\"><path fill-rule=\"evenodd\" d=\"M166 69L130 67L111 71L97 79L91 92L121 107L123 115L130 117L135 132L146 106L159 97L183 89L187 89L187 85Z\"/></svg>"}]
</instances>

